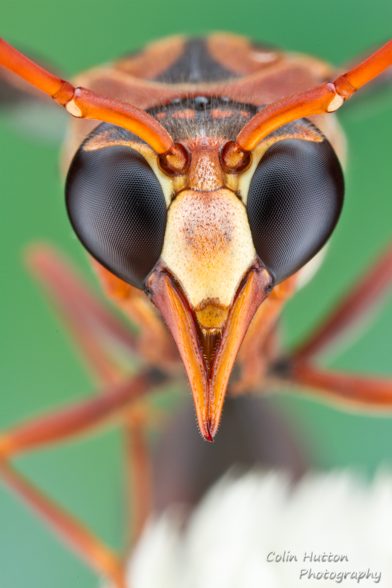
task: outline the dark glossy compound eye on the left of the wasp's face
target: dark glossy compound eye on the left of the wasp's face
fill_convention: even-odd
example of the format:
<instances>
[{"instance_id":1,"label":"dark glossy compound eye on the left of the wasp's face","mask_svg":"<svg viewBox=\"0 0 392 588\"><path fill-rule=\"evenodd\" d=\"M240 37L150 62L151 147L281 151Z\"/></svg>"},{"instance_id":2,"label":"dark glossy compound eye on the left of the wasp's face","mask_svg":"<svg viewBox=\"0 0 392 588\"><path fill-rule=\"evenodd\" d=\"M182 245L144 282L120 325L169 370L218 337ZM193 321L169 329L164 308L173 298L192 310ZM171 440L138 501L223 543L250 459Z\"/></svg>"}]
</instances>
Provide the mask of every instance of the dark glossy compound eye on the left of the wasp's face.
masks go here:
<instances>
[{"instance_id":1,"label":"dark glossy compound eye on the left of the wasp's face","mask_svg":"<svg viewBox=\"0 0 392 588\"><path fill-rule=\"evenodd\" d=\"M127 146L73 158L65 186L76 235L105 268L143 289L158 261L166 226L162 188L140 153Z\"/></svg>"}]
</instances>

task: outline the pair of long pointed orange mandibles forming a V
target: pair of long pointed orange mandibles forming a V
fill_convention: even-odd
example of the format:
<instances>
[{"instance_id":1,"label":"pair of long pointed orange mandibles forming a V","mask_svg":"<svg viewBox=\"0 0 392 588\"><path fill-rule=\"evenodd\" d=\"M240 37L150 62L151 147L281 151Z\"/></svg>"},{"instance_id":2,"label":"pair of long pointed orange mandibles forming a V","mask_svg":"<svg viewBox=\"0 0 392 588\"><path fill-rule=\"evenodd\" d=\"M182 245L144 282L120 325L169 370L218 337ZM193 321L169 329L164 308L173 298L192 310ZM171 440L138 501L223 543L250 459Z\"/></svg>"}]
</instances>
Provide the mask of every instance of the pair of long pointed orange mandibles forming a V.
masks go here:
<instances>
[{"instance_id":1,"label":"pair of long pointed orange mandibles forming a V","mask_svg":"<svg viewBox=\"0 0 392 588\"><path fill-rule=\"evenodd\" d=\"M229 310L210 370L203 355L195 318L185 297L165 268L148 278L150 299L165 319L176 342L195 400L197 421L205 439L212 441L219 426L223 400L234 361L254 313L268 296L272 278L259 265L250 269Z\"/></svg>"}]
</instances>

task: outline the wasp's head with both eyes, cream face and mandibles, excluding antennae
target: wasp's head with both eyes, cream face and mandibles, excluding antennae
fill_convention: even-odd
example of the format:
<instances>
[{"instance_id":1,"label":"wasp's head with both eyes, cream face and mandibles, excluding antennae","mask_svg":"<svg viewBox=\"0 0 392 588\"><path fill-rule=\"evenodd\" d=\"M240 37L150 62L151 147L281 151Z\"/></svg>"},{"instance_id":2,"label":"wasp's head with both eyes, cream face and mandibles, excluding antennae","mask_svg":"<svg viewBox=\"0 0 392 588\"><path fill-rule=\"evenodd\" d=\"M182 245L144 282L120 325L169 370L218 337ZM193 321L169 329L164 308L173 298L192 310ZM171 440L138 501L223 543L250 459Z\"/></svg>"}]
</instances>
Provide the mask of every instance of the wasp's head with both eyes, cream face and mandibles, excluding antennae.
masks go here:
<instances>
[{"instance_id":1,"label":"wasp's head with both eyes, cream face and mandibles, excluding antennae","mask_svg":"<svg viewBox=\"0 0 392 588\"><path fill-rule=\"evenodd\" d=\"M228 173L222 152L254 106L200 96L150 113L186 151L186 169L170 174L149 145L105 123L73 159L68 212L89 252L162 314L212 440L254 313L329 238L343 177L330 143L304 120Z\"/></svg>"}]
</instances>

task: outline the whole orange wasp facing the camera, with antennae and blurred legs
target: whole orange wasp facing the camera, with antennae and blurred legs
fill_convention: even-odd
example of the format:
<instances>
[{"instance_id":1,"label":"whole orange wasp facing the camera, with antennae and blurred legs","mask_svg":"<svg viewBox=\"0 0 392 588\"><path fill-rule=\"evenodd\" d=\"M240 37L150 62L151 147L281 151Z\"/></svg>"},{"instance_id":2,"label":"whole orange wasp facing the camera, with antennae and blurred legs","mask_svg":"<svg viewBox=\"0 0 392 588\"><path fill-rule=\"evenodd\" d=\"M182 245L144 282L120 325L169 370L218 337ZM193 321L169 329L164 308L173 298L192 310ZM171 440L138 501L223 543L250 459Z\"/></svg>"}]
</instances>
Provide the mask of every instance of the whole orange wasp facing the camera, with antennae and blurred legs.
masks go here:
<instances>
[{"instance_id":1,"label":"whole orange wasp facing the camera, with antennae and blurred legs","mask_svg":"<svg viewBox=\"0 0 392 588\"><path fill-rule=\"evenodd\" d=\"M105 387L3 432L1 476L115 586L126 586L123 560L11 457L119 419L136 472L137 535L149 512L143 399L183 368L209 442L226 395L292 385L390 408L390 380L314 361L384 295L390 249L292 352L280 349L276 325L339 221L344 141L334 112L391 63L392 41L335 75L309 56L213 34L163 39L70 83L0 42L7 83L46 93L73 117L63 152L68 216L106 295L138 329L124 328L51 250L31 251L33 272ZM134 359L130 375L124 356Z\"/></svg>"}]
</instances>

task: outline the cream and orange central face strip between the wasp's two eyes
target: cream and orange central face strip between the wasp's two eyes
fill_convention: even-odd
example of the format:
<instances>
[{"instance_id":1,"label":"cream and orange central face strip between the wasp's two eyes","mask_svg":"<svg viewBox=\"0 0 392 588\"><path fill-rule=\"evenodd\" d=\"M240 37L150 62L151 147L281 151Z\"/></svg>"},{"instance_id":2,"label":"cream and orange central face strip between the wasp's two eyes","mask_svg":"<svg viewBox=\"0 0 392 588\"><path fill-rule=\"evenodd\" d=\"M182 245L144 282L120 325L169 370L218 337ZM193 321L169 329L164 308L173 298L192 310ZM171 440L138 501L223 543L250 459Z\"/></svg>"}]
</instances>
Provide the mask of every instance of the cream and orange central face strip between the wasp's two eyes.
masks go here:
<instances>
[{"instance_id":1,"label":"cream and orange central face strip between the wasp's two eyes","mask_svg":"<svg viewBox=\"0 0 392 588\"><path fill-rule=\"evenodd\" d=\"M256 251L246 208L226 187L219 161L225 141L202 136L184 143L191 163L185 188L167 211L161 259L195 313L210 366L212 341L222 333Z\"/></svg>"}]
</instances>

